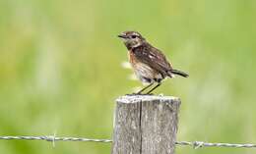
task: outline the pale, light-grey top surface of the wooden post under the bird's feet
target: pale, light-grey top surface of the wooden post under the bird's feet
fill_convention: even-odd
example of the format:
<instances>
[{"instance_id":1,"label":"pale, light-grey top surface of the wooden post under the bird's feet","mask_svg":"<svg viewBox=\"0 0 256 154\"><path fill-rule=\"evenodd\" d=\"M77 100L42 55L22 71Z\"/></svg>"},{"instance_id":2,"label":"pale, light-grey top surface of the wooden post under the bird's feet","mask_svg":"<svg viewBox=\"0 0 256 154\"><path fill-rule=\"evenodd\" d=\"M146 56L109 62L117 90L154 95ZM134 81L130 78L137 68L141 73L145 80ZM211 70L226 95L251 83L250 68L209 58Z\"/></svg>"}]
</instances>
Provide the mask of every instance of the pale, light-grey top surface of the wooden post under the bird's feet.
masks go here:
<instances>
[{"instance_id":1,"label":"pale, light-grey top surface of the wooden post under the bird's feet","mask_svg":"<svg viewBox=\"0 0 256 154\"><path fill-rule=\"evenodd\" d=\"M124 95L116 99L118 102L122 103L137 103L140 101L180 101L178 97L173 96L162 96L162 95Z\"/></svg>"}]
</instances>

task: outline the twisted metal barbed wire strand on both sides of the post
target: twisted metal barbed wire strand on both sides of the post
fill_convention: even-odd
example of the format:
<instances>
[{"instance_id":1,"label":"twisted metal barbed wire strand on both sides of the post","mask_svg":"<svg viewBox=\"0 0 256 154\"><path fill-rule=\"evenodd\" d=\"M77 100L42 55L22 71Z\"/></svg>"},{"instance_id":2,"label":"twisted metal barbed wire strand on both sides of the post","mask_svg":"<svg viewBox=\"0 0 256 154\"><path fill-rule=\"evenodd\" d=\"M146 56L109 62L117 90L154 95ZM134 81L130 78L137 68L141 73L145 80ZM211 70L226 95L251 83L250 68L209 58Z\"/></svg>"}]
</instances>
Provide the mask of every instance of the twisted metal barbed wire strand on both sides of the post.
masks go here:
<instances>
[{"instance_id":1,"label":"twisted metal barbed wire strand on both sides of the post","mask_svg":"<svg viewBox=\"0 0 256 154\"><path fill-rule=\"evenodd\" d=\"M45 140L52 142L53 147L56 141L82 141L82 142L112 142L110 139L90 139L85 137L66 137L54 135L41 135L41 136L0 136L0 140ZM235 148L256 148L256 144L236 144L236 143L210 143L203 141L176 141L176 145L192 146L193 148L201 147L235 147Z\"/></svg>"}]
</instances>

